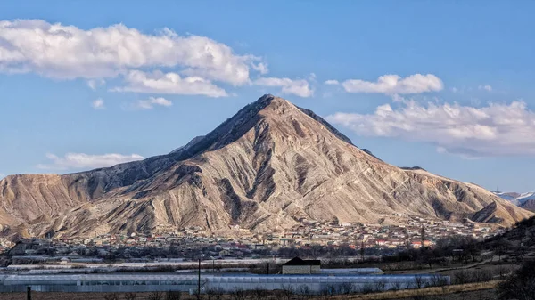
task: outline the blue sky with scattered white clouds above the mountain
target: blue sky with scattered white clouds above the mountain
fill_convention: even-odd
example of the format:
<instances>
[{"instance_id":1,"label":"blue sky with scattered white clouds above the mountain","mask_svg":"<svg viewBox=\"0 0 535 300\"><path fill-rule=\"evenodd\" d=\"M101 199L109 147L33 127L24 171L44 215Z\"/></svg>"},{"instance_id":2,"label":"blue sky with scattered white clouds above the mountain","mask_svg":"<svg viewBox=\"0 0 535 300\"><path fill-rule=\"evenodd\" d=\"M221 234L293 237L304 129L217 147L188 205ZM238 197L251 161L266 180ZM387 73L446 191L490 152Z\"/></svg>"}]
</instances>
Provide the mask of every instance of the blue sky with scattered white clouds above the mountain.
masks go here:
<instances>
[{"instance_id":1,"label":"blue sky with scattered white clouds above the mountain","mask_svg":"<svg viewBox=\"0 0 535 300\"><path fill-rule=\"evenodd\" d=\"M167 153L263 93L361 148L533 191L531 1L0 3L0 176Z\"/></svg>"}]
</instances>

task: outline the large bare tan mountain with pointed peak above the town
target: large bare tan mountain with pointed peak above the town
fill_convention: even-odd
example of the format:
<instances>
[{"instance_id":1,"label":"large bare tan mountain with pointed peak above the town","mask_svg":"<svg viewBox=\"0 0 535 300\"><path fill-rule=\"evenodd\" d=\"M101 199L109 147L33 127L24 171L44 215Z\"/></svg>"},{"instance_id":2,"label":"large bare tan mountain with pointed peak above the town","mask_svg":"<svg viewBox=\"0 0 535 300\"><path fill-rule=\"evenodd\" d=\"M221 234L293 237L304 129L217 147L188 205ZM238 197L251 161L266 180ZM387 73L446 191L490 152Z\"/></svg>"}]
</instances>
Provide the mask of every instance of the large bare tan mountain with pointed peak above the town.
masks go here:
<instances>
[{"instance_id":1,"label":"large bare tan mountain with pointed peak above the town","mask_svg":"<svg viewBox=\"0 0 535 300\"><path fill-rule=\"evenodd\" d=\"M533 215L475 184L391 166L272 95L166 155L0 181L1 233L12 239L188 226L223 234L231 224L284 231L301 218L394 223L394 213L501 225Z\"/></svg>"}]
</instances>

